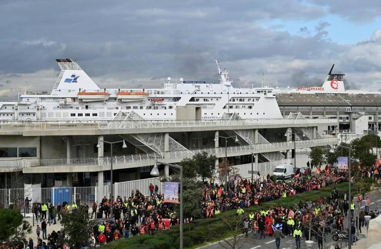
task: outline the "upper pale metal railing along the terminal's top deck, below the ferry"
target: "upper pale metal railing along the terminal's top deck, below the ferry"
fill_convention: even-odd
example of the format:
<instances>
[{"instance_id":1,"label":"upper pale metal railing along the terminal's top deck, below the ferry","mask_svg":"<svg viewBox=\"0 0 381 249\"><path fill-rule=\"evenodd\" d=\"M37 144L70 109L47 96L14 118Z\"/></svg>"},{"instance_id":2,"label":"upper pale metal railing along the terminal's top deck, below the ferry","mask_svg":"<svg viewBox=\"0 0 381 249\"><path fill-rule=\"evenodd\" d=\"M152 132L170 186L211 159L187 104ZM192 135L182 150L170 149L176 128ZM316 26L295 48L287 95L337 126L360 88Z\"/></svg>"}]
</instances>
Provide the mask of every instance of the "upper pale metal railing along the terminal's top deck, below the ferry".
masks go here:
<instances>
[{"instance_id":1,"label":"upper pale metal railing along the terminal's top deck, below the ferry","mask_svg":"<svg viewBox=\"0 0 381 249\"><path fill-rule=\"evenodd\" d=\"M260 124L327 124L331 119L247 119L247 120L160 120L160 121L93 121L93 122L4 122L0 130L38 131L65 129L127 129L127 128L166 128L166 127L214 127Z\"/></svg>"}]
</instances>

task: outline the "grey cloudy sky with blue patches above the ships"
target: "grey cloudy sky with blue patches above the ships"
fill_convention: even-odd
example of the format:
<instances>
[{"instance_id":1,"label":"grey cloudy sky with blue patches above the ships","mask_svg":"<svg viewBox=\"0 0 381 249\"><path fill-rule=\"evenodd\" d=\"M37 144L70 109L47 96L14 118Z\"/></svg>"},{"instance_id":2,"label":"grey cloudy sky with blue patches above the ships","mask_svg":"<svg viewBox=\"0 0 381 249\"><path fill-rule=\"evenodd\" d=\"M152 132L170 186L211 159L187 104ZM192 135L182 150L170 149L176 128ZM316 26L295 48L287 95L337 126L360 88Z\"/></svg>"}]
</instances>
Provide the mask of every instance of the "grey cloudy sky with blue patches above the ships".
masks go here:
<instances>
[{"instance_id":1,"label":"grey cloudy sky with blue patches above the ships","mask_svg":"<svg viewBox=\"0 0 381 249\"><path fill-rule=\"evenodd\" d=\"M361 4L360 4L361 3ZM332 63L351 89L381 88L380 0L1 0L0 100L50 91L57 58L100 87L163 79L321 85Z\"/></svg>"}]
</instances>

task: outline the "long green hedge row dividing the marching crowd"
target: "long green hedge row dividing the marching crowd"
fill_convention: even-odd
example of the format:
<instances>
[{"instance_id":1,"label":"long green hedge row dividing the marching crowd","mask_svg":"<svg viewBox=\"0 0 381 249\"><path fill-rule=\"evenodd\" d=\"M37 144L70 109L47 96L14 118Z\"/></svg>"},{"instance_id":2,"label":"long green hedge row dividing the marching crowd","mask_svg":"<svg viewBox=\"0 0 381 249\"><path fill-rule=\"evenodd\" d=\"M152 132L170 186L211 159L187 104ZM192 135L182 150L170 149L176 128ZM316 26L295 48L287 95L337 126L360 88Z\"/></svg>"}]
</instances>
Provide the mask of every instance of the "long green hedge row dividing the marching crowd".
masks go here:
<instances>
[{"instance_id":1,"label":"long green hedge row dividing the marching crowd","mask_svg":"<svg viewBox=\"0 0 381 249\"><path fill-rule=\"evenodd\" d=\"M365 191L370 189L372 181L368 179L362 181ZM334 187L339 189L339 193L342 196L348 189L348 183L340 183L336 185L330 185L322 187L320 190L308 191L298 193L296 195L287 196L273 201L264 202L260 206L252 206L245 208L245 212L256 211L261 208L272 208L274 206L286 206L293 207L295 203L299 201L305 202L308 200L317 200L319 197L328 197ZM356 194L357 187L353 186L353 195ZM226 211L228 215L237 215L236 210ZM225 231L225 233L221 233ZM227 237L228 231L226 231L225 225L219 220L218 215L213 219L197 219L192 223L184 224L184 247L192 248L201 246L206 242L206 235L221 233L221 238ZM159 231L154 236L143 235L127 240L120 240L107 244L105 249L119 249L119 248L137 248L137 249L177 249L179 248L180 231L179 226L172 227L170 230Z\"/></svg>"}]
</instances>

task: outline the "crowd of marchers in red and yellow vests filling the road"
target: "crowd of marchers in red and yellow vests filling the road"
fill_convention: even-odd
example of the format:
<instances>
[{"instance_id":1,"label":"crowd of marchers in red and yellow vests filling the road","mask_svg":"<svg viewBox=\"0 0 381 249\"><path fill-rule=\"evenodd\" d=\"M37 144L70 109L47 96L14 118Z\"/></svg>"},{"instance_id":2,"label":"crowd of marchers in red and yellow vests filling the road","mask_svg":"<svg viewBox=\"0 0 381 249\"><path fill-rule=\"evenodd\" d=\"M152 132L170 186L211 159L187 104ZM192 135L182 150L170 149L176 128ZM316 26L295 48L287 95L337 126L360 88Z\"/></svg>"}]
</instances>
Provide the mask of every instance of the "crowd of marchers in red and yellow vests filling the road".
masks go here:
<instances>
[{"instance_id":1,"label":"crowd of marchers in red and yellow vests filling the road","mask_svg":"<svg viewBox=\"0 0 381 249\"><path fill-rule=\"evenodd\" d=\"M337 188L328 198L319 198L317 202L300 202L293 208L277 206L267 210L260 209L255 213L245 213L243 209L347 180L345 172L338 172L331 167L317 170L317 174L312 175L311 170L307 173L303 177L292 178L287 183L274 181L269 175L262 181L254 182L236 177L229 182L228 186L217 185L211 179L210 182L204 183L204 193L200 203L203 214L205 218L213 218L223 211L236 209L237 214L242 216L243 229L247 235L249 231L252 231L253 237L259 237L259 239L274 236L277 247L281 237L293 236L296 239L297 248L300 248L300 239L303 236L306 238L309 236L311 227L311 234L315 236L321 248L324 234L332 227L344 229L344 216L347 215L348 210L352 209L352 203L348 202L349 197L344 195L344 199L339 199ZM111 207L111 199L106 196L100 203L94 202L90 207L90 217L91 219L94 217L95 220L89 228L91 232L89 245L103 245L139 234L153 235L156 231L178 225L179 219L174 205L164 202L164 196L158 192L157 186L150 184L149 190L148 196L144 196L139 190L132 191L128 197L117 196L113 207ZM47 234L46 224L49 222L55 224L61 219L63 212L76 212L78 208L89 209L80 201L72 204L64 202L62 205L59 203L57 206L52 203L33 203L32 212L38 224L37 249L57 248L57 238L61 231ZM362 211L364 213L360 214L360 224L364 223L363 218L367 211L369 210ZM188 218L191 220L193 217ZM40 233L42 239L40 239ZM29 243L32 246L30 248L33 248L33 241Z\"/></svg>"}]
</instances>

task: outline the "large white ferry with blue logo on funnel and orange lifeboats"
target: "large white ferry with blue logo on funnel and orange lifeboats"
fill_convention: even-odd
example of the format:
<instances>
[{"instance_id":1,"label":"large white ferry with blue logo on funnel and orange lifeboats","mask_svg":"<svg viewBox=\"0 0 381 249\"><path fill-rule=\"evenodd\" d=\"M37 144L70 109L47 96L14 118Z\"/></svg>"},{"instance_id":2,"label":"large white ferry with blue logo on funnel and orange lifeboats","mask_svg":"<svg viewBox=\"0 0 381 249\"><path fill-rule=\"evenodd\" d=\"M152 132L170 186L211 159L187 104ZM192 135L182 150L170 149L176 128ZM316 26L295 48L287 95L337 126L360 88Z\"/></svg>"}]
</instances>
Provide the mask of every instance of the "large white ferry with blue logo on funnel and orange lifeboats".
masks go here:
<instances>
[{"instance_id":1,"label":"large white ferry with blue logo on funnel and orange lifeboats","mask_svg":"<svg viewBox=\"0 0 381 249\"><path fill-rule=\"evenodd\" d=\"M56 60L61 67L51 92L32 91L17 101L0 102L0 121L111 121L120 112L133 111L145 120L176 120L178 106L201 107L201 119L219 119L236 113L243 119L281 119L273 88L235 88L228 70L220 82L168 77L162 88L99 87L71 59Z\"/></svg>"}]
</instances>

